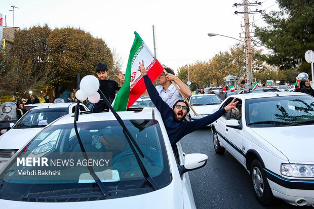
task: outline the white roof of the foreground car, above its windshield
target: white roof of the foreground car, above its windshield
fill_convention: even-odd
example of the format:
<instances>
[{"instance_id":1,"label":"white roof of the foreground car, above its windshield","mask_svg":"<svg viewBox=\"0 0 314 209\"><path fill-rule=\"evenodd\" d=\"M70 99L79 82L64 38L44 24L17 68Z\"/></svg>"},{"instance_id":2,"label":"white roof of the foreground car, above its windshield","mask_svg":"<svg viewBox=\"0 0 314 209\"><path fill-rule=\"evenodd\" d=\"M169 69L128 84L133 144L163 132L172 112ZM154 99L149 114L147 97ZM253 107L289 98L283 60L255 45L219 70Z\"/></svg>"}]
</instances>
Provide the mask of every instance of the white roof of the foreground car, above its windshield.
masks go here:
<instances>
[{"instance_id":1,"label":"white roof of the foreground car, above its windshield","mask_svg":"<svg viewBox=\"0 0 314 209\"><path fill-rule=\"evenodd\" d=\"M117 114L121 117L123 120L130 120L130 119L154 119L153 117L156 117L155 119L160 120L159 114L153 114L153 111L157 111L155 107L145 107L142 111L119 111ZM58 120L56 120L54 123L51 124L51 126L56 126L60 124L70 124L74 122L74 113L67 114ZM92 122L92 121L103 121L103 120L116 120L112 112L100 112L100 113L90 113L90 114L80 114L78 116L79 122Z\"/></svg>"}]
</instances>

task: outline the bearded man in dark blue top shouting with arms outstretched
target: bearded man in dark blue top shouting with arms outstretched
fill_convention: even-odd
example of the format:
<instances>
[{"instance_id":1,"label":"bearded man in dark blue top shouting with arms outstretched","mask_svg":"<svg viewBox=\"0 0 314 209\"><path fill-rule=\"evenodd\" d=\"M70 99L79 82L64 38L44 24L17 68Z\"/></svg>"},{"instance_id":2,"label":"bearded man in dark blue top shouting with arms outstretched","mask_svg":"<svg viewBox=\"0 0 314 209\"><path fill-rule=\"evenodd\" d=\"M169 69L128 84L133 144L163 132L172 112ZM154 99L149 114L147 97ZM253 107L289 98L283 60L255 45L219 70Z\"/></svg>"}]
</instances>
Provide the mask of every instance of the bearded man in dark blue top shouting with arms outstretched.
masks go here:
<instances>
[{"instance_id":1,"label":"bearded man in dark blue top shouting with arms outstretched","mask_svg":"<svg viewBox=\"0 0 314 209\"><path fill-rule=\"evenodd\" d=\"M142 63L139 62L139 65L138 70L143 75L145 86L151 101L161 113L171 145L175 145L185 135L202 129L208 124L214 122L227 111L234 109L235 104L238 103L234 102L233 99L230 104L211 115L194 121L183 121L189 111L187 103L184 100L178 100L171 109L169 105L159 96L158 91L156 91L156 88L153 86L145 71L144 61L142 61Z\"/></svg>"}]
</instances>

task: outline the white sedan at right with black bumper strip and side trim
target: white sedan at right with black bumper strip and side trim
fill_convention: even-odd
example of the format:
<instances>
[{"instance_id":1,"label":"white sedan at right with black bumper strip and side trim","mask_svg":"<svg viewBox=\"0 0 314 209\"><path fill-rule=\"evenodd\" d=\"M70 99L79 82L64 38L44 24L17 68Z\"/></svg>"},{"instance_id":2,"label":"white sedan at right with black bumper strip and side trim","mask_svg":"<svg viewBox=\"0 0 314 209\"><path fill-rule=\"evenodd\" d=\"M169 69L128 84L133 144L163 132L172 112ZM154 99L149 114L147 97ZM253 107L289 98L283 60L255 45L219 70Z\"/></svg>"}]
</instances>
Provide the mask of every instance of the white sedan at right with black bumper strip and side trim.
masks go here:
<instances>
[{"instance_id":1,"label":"white sedan at right with black bumper strip and side trim","mask_svg":"<svg viewBox=\"0 0 314 209\"><path fill-rule=\"evenodd\" d=\"M314 205L314 98L273 92L228 97L239 103L212 123L216 153L225 149L252 179L257 200L274 197L293 205ZM234 181L237 181L234 179Z\"/></svg>"}]
</instances>

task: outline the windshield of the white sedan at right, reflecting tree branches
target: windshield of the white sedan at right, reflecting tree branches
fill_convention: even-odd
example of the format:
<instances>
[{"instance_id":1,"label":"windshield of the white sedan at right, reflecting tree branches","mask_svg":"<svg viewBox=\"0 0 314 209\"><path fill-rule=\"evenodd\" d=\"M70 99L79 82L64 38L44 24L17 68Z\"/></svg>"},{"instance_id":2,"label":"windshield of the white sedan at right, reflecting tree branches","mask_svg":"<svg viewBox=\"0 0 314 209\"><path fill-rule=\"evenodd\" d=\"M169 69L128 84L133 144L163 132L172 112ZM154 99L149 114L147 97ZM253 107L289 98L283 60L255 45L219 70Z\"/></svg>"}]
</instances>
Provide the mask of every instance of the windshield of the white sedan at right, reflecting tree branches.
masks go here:
<instances>
[{"instance_id":1,"label":"windshield of the white sedan at right, reflecting tree branches","mask_svg":"<svg viewBox=\"0 0 314 209\"><path fill-rule=\"evenodd\" d=\"M249 127L301 126L314 123L314 98L309 95L246 100Z\"/></svg>"}]
</instances>

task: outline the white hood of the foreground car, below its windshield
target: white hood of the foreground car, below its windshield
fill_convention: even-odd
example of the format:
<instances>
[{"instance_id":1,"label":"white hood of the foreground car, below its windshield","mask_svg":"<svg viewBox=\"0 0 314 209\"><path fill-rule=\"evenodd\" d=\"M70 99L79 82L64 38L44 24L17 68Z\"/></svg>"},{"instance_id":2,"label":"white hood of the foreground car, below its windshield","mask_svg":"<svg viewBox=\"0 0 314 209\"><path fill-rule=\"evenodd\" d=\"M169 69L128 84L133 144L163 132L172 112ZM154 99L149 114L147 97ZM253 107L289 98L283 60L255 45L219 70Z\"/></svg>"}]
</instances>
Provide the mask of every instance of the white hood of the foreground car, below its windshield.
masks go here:
<instances>
[{"instance_id":1,"label":"white hood of the foreground car, below its windshield","mask_svg":"<svg viewBox=\"0 0 314 209\"><path fill-rule=\"evenodd\" d=\"M97 200L97 201L82 201L82 202L24 202L11 201L0 199L2 208L20 209L55 209L55 208L183 208L183 193L182 185L178 188L178 184L173 182L162 189L131 197ZM180 186L179 186L180 187Z\"/></svg>"}]
</instances>

